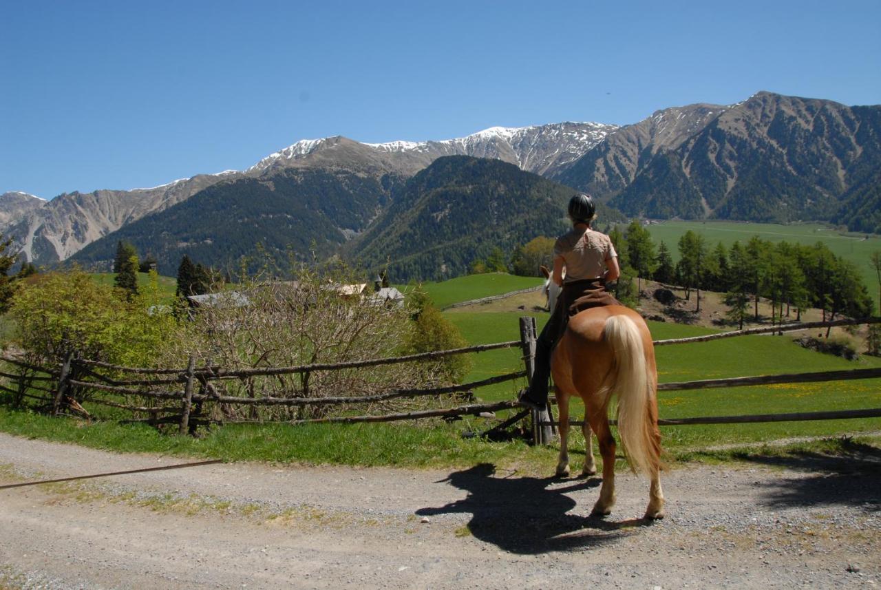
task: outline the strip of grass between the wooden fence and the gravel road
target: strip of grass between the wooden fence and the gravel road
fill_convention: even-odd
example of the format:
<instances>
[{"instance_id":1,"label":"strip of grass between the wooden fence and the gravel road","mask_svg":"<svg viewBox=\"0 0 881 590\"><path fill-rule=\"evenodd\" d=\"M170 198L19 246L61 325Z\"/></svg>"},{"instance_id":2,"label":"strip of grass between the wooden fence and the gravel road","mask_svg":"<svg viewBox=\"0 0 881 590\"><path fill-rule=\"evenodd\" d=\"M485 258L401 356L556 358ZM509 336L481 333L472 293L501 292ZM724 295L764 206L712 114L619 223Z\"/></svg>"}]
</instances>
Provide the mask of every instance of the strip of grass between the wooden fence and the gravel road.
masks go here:
<instances>
[{"instance_id":1,"label":"strip of grass between the wooden fence and the gravel road","mask_svg":"<svg viewBox=\"0 0 881 590\"><path fill-rule=\"evenodd\" d=\"M854 424L859 422L867 424ZM676 467L688 462L754 461L756 456L782 457L809 451L846 454L850 451L843 445L850 440L881 449L877 420L793 424L828 425L807 431L808 440L781 445L774 444L774 441L784 439L782 433L803 432L804 429L790 427L778 432L756 428L749 431L744 426L766 427L768 424L741 424L734 431L715 425L705 427L714 430L705 431L699 436L671 436L674 429L663 428L664 459L671 467ZM552 471L559 452L558 445L533 447L522 440L490 442L463 437L464 431L481 431L488 426L488 422L480 418L454 424L422 425L233 424L214 428L202 438L194 439L163 434L142 424L86 424L73 418L51 418L0 407L0 431L29 439L73 443L117 453L395 468L467 468L478 463L492 463L499 468L532 476L547 475ZM677 427L676 430L686 428ZM853 432L857 438L844 437L841 432ZM713 446L725 448L714 449ZM595 449L598 458L596 446ZM617 467L626 468L620 447L618 449ZM570 433L569 452L574 468L580 466L584 441L578 428L573 428Z\"/></svg>"}]
</instances>

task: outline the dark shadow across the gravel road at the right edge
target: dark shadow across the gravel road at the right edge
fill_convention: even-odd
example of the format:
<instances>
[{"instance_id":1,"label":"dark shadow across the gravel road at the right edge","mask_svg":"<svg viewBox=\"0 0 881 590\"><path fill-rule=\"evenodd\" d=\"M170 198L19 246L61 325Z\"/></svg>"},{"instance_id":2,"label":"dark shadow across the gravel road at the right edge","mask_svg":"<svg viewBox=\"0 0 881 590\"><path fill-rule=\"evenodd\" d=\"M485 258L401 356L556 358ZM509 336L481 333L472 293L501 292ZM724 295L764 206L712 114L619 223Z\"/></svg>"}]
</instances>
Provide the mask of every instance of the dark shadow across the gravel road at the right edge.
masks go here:
<instances>
[{"instance_id":1,"label":"dark shadow across the gravel road at the right edge","mask_svg":"<svg viewBox=\"0 0 881 590\"><path fill-rule=\"evenodd\" d=\"M770 506L856 505L881 511L881 449L850 439L835 454L793 452L782 457L744 454L743 461L816 474L762 484Z\"/></svg>"}]
</instances>

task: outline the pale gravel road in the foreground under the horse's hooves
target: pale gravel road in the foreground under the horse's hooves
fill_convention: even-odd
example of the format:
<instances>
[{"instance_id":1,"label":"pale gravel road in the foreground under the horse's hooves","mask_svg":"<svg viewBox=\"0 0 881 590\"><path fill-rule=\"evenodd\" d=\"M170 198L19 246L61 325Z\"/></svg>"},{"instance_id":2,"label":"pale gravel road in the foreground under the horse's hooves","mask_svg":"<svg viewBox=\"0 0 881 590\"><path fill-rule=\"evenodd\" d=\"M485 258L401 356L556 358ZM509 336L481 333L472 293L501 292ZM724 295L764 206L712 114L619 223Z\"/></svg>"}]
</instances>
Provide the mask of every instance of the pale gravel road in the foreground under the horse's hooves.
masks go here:
<instances>
[{"instance_id":1,"label":"pale gravel road in the foreground under the horse's hooves","mask_svg":"<svg viewBox=\"0 0 881 590\"><path fill-rule=\"evenodd\" d=\"M0 434L0 484L182 462ZM549 470L552 465L548 466ZM228 464L0 490L0 588L881 586L881 457L647 483Z\"/></svg>"}]
</instances>

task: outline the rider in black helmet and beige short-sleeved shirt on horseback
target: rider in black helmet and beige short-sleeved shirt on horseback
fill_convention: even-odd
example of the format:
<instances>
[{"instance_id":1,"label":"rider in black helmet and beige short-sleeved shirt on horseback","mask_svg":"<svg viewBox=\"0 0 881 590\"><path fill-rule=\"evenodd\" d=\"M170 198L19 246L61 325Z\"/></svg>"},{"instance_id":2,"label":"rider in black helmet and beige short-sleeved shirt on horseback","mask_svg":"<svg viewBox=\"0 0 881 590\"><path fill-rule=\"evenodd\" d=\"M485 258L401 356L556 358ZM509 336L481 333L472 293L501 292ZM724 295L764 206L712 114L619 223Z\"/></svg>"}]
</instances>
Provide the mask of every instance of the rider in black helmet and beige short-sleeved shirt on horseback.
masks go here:
<instances>
[{"instance_id":1,"label":"rider in black helmet and beige short-sleeved shirt on horseback","mask_svg":"<svg viewBox=\"0 0 881 590\"><path fill-rule=\"evenodd\" d=\"M605 284L618 278L618 253L609 236L590 228L596 219L593 197L576 193L569 199L569 218L573 228L562 235L553 247L551 280L562 285L557 306L536 341L535 369L529 387L518 397L521 405L544 409L548 402L548 378L551 376L551 353L563 335L569 318L596 306L619 306L618 299L605 291ZM566 269L566 278L563 277Z\"/></svg>"}]
</instances>

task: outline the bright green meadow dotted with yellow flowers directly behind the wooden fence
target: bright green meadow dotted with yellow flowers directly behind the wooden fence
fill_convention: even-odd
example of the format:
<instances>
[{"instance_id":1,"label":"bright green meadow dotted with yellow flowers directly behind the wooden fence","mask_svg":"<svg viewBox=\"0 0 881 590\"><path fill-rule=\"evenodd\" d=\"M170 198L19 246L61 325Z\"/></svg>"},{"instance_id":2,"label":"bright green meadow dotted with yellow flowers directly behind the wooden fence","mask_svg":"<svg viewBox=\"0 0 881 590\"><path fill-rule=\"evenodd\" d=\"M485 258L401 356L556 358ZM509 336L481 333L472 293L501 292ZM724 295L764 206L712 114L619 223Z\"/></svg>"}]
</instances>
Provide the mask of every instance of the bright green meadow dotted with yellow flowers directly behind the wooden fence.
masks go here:
<instances>
[{"instance_id":1,"label":"bright green meadow dotted with yellow flowers directly behind the wooden fence","mask_svg":"<svg viewBox=\"0 0 881 590\"><path fill-rule=\"evenodd\" d=\"M519 339L520 313L447 313L446 317L472 344ZM546 314L537 314L538 328ZM675 323L649 322L655 340L701 336L716 330ZM862 356L848 361L803 349L793 336L740 336L708 343L672 344L655 349L658 380L662 383L723 379L789 372L836 371L881 366L881 358ZM492 350L472 355L473 367L466 380L481 380L522 369L521 351ZM486 402L511 399L524 380L483 387L477 395ZM726 387L692 391L660 392L662 418L783 414L833 409L881 407L877 380L785 384L759 387ZM575 414L580 415L581 409ZM839 432L881 431L881 420L792 422L772 424L718 424L664 427L666 446L679 447L733 444L795 436L833 435Z\"/></svg>"}]
</instances>

